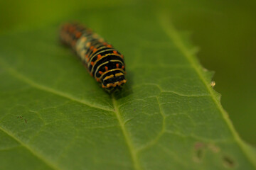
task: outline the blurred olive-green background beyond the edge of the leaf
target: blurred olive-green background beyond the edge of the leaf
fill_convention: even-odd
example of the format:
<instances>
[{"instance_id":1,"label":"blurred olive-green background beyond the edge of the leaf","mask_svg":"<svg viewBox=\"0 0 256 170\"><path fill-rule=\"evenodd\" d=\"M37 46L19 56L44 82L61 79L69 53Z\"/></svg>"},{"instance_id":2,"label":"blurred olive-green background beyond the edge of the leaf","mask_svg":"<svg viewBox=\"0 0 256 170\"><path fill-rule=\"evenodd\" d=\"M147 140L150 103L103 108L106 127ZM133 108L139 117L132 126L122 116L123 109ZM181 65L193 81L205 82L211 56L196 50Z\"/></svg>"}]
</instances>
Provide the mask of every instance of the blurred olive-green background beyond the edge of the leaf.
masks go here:
<instances>
[{"instance_id":1,"label":"blurred olive-green background beyond the edge of the leaf","mask_svg":"<svg viewBox=\"0 0 256 170\"><path fill-rule=\"evenodd\" d=\"M58 24L90 8L152 3L169 11L176 28L191 32L203 67L215 71L215 90L235 129L256 145L256 1L1 0L0 35Z\"/></svg>"}]
</instances>

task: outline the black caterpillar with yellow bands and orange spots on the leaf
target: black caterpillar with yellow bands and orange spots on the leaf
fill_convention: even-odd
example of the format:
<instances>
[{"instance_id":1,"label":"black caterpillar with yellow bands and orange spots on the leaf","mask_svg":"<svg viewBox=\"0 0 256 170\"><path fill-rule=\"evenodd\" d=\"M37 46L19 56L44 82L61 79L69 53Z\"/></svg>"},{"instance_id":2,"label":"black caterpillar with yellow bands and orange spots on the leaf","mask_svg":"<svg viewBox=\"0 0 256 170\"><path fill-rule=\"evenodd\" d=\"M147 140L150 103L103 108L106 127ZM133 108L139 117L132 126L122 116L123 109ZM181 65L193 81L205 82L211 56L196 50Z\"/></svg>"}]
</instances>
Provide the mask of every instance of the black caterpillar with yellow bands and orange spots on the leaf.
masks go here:
<instances>
[{"instance_id":1,"label":"black caterpillar with yellow bands and orange spots on the leaf","mask_svg":"<svg viewBox=\"0 0 256 170\"><path fill-rule=\"evenodd\" d=\"M60 26L60 40L73 49L90 75L107 92L121 90L127 82L124 56L90 28L65 23Z\"/></svg>"}]
</instances>

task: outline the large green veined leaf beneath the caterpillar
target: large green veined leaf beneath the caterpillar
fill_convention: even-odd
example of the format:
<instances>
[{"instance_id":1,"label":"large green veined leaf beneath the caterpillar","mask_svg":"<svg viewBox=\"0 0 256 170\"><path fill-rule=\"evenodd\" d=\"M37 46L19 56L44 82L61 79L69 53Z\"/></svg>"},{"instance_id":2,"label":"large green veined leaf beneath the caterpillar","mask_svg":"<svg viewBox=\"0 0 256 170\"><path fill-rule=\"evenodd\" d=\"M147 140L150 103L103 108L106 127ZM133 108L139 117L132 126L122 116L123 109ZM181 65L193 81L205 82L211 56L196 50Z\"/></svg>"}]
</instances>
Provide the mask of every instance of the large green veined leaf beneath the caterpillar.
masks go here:
<instances>
[{"instance_id":1,"label":"large green veined leaf beneath the caterpillar","mask_svg":"<svg viewBox=\"0 0 256 170\"><path fill-rule=\"evenodd\" d=\"M255 149L168 13L73 15L124 54L128 82L103 91L60 45L58 24L1 35L0 169L255 169Z\"/></svg>"}]
</instances>

